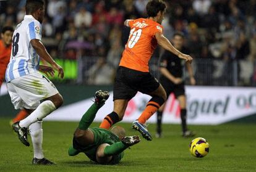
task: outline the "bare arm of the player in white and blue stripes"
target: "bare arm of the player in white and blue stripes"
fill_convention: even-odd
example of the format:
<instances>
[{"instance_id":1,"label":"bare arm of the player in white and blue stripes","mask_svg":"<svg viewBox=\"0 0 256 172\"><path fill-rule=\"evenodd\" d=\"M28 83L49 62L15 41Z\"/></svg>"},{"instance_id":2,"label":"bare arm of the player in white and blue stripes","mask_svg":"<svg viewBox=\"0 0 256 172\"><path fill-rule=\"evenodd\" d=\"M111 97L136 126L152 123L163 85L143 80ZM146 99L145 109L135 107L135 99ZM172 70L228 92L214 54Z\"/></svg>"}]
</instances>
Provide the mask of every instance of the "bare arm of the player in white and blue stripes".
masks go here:
<instances>
[{"instance_id":1,"label":"bare arm of the player in white and blue stripes","mask_svg":"<svg viewBox=\"0 0 256 172\"><path fill-rule=\"evenodd\" d=\"M36 53L42 58L45 59L46 62L50 63L51 66L55 69L58 70L59 74L58 76L61 76L61 78L64 77L64 71L62 69L62 67L60 65L58 65L53 58L51 57L51 55L49 55L49 53L46 51L45 46L43 45L43 43L41 43L41 41L39 39L32 39L30 41L30 44L32 45L33 49L35 49Z\"/></svg>"}]
</instances>

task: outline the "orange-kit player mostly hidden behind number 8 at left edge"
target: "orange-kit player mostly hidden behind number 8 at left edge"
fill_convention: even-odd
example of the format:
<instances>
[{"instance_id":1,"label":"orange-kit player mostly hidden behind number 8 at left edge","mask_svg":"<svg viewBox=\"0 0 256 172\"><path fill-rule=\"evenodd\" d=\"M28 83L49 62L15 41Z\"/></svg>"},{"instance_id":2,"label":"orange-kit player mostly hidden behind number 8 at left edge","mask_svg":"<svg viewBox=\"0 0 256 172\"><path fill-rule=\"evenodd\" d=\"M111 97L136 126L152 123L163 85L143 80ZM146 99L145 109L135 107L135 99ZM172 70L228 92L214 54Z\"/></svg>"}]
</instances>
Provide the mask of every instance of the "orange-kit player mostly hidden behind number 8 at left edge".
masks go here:
<instances>
[{"instance_id":1,"label":"orange-kit player mostly hidden behind number 8 at left edge","mask_svg":"<svg viewBox=\"0 0 256 172\"><path fill-rule=\"evenodd\" d=\"M11 57L12 48L12 34L14 33L14 28L6 26L2 28L1 40L0 40L0 88L2 82L4 81L4 75L6 74L6 68ZM20 110L14 119L10 121L15 123L16 121L23 120L27 117L27 112L25 110Z\"/></svg>"}]
</instances>

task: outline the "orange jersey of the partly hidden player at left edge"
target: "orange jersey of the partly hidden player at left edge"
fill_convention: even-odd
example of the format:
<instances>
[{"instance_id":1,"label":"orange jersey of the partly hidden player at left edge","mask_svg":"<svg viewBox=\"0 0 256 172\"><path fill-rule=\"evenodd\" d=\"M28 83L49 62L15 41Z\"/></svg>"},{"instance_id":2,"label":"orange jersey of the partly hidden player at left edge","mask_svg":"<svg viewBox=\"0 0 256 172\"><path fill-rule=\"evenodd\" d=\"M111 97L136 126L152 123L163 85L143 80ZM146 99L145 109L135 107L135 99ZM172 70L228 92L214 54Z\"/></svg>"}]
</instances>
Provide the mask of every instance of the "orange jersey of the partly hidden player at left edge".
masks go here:
<instances>
[{"instance_id":1,"label":"orange jersey of the partly hidden player at left edge","mask_svg":"<svg viewBox=\"0 0 256 172\"><path fill-rule=\"evenodd\" d=\"M6 75L6 68L11 57L11 45L8 47L4 46L2 40L0 40L0 86L4 80L4 75Z\"/></svg>"}]
</instances>

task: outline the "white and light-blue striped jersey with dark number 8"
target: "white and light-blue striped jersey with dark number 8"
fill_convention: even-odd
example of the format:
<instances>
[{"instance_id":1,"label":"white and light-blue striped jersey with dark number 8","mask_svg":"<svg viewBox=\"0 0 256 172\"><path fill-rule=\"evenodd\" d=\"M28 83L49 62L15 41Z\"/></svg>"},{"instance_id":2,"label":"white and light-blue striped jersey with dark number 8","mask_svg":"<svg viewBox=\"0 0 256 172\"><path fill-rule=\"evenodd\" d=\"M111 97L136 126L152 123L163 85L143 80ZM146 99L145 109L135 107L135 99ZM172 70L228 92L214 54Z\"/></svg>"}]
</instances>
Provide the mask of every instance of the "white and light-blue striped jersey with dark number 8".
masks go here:
<instances>
[{"instance_id":1,"label":"white and light-blue striped jersey with dark number 8","mask_svg":"<svg viewBox=\"0 0 256 172\"><path fill-rule=\"evenodd\" d=\"M32 15L25 15L12 36L12 51L6 70L6 83L38 70L40 57L30 44L32 39L41 40L41 23Z\"/></svg>"}]
</instances>

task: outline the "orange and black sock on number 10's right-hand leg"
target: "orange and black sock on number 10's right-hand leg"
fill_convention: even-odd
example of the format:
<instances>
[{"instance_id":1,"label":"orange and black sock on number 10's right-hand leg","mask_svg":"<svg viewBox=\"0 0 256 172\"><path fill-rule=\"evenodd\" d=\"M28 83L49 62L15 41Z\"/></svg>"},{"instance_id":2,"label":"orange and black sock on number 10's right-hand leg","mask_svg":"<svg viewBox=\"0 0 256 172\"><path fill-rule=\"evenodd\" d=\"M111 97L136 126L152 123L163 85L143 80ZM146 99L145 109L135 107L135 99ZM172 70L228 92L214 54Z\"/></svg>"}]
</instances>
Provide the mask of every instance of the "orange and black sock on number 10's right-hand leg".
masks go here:
<instances>
[{"instance_id":1,"label":"orange and black sock on number 10's right-hand leg","mask_svg":"<svg viewBox=\"0 0 256 172\"><path fill-rule=\"evenodd\" d=\"M154 96L149 100L146 109L138 118L139 123L145 124L146 121L164 104L163 97Z\"/></svg>"}]
</instances>

